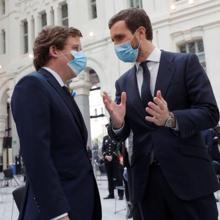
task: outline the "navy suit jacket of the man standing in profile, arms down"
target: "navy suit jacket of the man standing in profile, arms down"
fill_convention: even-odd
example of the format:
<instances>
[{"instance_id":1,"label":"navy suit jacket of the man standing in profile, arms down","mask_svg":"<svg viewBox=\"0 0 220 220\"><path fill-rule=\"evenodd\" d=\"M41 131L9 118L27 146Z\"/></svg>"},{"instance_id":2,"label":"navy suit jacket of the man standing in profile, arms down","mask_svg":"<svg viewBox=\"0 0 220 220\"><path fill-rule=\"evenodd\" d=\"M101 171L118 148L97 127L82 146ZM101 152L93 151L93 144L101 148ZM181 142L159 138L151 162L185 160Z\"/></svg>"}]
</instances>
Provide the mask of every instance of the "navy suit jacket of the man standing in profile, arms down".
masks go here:
<instances>
[{"instance_id":1,"label":"navy suit jacket of the man standing in profile, arms down","mask_svg":"<svg viewBox=\"0 0 220 220\"><path fill-rule=\"evenodd\" d=\"M65 212L73 220L101 219L87 130L75 101L40 69L18 82L11 105L27 171L28 219L38 214L37 219L48 220Z\"/></svg>"}]
</instances>

